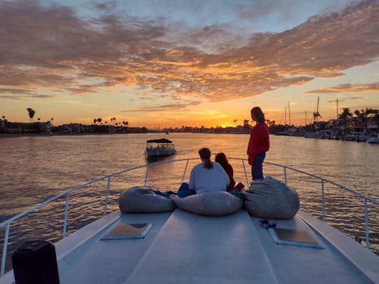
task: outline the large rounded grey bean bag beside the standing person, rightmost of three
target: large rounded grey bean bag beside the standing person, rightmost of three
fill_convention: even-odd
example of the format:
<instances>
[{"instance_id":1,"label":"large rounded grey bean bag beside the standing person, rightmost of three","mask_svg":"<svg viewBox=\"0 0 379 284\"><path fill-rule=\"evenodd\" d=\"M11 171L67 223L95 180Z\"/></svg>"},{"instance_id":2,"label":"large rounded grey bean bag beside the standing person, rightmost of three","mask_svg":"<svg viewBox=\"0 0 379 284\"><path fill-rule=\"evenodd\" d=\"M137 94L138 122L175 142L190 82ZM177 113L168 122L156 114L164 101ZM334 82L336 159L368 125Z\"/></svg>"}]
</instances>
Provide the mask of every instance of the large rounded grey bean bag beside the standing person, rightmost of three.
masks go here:
<instances>
[{"instance_id":1,"label":"large rounded grey bean bag beside the standing person, rightmost of three","mask_svg":"<svg viewBox=\"0 0 379 284\"><path fill-rule=\"evenodd\" d=\"M250 189L242 190L245 207L251 215L265 219L292 219L299 210L298 193L292 187L267 176L256 180Z\"/></svg>"}]
</instances>

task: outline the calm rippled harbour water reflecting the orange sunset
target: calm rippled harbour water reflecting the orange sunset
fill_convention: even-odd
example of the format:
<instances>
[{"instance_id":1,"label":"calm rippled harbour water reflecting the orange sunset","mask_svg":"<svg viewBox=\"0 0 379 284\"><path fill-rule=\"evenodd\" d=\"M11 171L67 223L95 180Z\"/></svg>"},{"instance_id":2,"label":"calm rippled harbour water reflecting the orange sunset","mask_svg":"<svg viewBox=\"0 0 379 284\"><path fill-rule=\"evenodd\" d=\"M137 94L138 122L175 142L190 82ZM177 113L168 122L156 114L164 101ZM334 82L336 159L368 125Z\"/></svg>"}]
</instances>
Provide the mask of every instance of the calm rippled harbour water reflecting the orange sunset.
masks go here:
<instances>
[{"instance_id":1,"label":"calm rippled harbour water reflecting the orange sunset","mask_svg":"<svg viewBox=\"0 0 379 284\"><path fill-rule=\"evenodd\" d=\"M197 151L201 147L208 147L213 153L223 151L229 157L246 158L249 135L171 133L0 138L0 222L65 189L109 173L149 163L144 156L146 140L161 137L173 140L178 150L177 155L168 159L197 158ZM267 152L265 161L319 175L379 201L379 145L274 135L270 139L271 149ZM197 162L194 161L193 164ZM241 162L230 162L234 166L236 182L246 184ZM161 177L170 171L182 173L183 169L165 167L152 169L152 180L154 176ZM173 175L171 172L170 175ZM142 185L140 177L144 173L126 177L125 180L112 180L109 210L117 210L117 198L122 190ZM279 168L266 165L264 173L283 179L283 170ZM171 182L167 179L166 184L159 184L159 188L177 189L178 182L180 180ZM300 208L321 217L320 182L304 175L288 173L288 184L300 194ZM100 182L81 190L81 193L70 194L70 201L74 200L74 205L69 208L69 233L101 216L105 187L106 184ZM8 254L15 245L27 238L58 240L62 236L63 219L60 205L64 202L62 198L14 222ZM364 203L361 198L354 198L352 194L336 187L326 186L326 205L329 224L345 231L352 238L356 235L364 236ZM379 252L378 207L368 206L370 241L375 252ZM5 227L0 228L1 241L4 231Z\"/></svg>"}]
</instances>

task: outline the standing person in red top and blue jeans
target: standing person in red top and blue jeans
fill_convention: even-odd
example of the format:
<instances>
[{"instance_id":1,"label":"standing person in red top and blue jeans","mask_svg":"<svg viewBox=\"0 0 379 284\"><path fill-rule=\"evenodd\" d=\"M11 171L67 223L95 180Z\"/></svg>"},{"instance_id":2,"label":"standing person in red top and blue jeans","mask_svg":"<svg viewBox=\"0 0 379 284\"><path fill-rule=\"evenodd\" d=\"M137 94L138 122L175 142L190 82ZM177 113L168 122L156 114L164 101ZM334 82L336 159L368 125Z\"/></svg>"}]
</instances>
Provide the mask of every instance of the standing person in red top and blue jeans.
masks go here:
<instances>
[{"instance_id":1,"label":"standing person in red top and blue jeans","mask_svg":"<svg viewBox=\"0 0 379 284\"><path fill-rule=\"evenodd\" d=\"M251 119L255 126L251 128L250 140L248 140L248 163L251 165L253 180L263 180L263 160L270 149L269 129L265 123L265 114L260 107L251 109Z\"/></svg>"}]
</instances>

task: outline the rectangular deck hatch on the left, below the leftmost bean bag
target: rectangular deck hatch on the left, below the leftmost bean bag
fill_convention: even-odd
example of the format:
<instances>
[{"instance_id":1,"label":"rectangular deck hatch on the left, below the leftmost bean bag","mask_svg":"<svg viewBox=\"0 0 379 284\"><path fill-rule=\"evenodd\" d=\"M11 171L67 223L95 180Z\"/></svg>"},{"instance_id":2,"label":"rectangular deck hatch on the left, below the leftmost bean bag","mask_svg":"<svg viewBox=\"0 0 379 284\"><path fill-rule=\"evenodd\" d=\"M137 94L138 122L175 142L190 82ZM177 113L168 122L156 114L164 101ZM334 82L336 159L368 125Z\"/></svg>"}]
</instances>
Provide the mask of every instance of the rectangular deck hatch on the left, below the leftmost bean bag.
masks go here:
<instances>
[{"instance_id":1,"label":"rectangular deck hatch on the left, below the leftmost bean bag","mask_svg":"<svg viewBox=\"0 0 379 284\"><path fill-rule=\"evenodd\" d=\"M117 224L100 238L101 241L145 238L152 229L151 223Z\"/></svg>"}]
</instances>

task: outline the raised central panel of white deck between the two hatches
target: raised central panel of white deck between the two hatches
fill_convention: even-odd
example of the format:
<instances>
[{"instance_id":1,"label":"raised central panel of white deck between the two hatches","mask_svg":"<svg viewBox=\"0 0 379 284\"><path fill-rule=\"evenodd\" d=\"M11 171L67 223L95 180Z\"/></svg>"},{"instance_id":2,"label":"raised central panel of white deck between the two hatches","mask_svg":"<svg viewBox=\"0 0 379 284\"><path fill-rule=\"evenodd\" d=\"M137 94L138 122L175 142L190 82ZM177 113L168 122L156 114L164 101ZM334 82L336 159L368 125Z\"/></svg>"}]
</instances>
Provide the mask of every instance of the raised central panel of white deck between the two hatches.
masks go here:
<instances>
[{"instance_id":1,"label":"raised central panel of white deck between the two hatches","mask_svg":"<svg viewBox=\"0 0 379 284\"><path fill-rule=\"evenodd\" d=\"M204 217L176 209L125 283L157 281L277 283L277 278L246 211Z\"/></svg>"}]
</instances>

